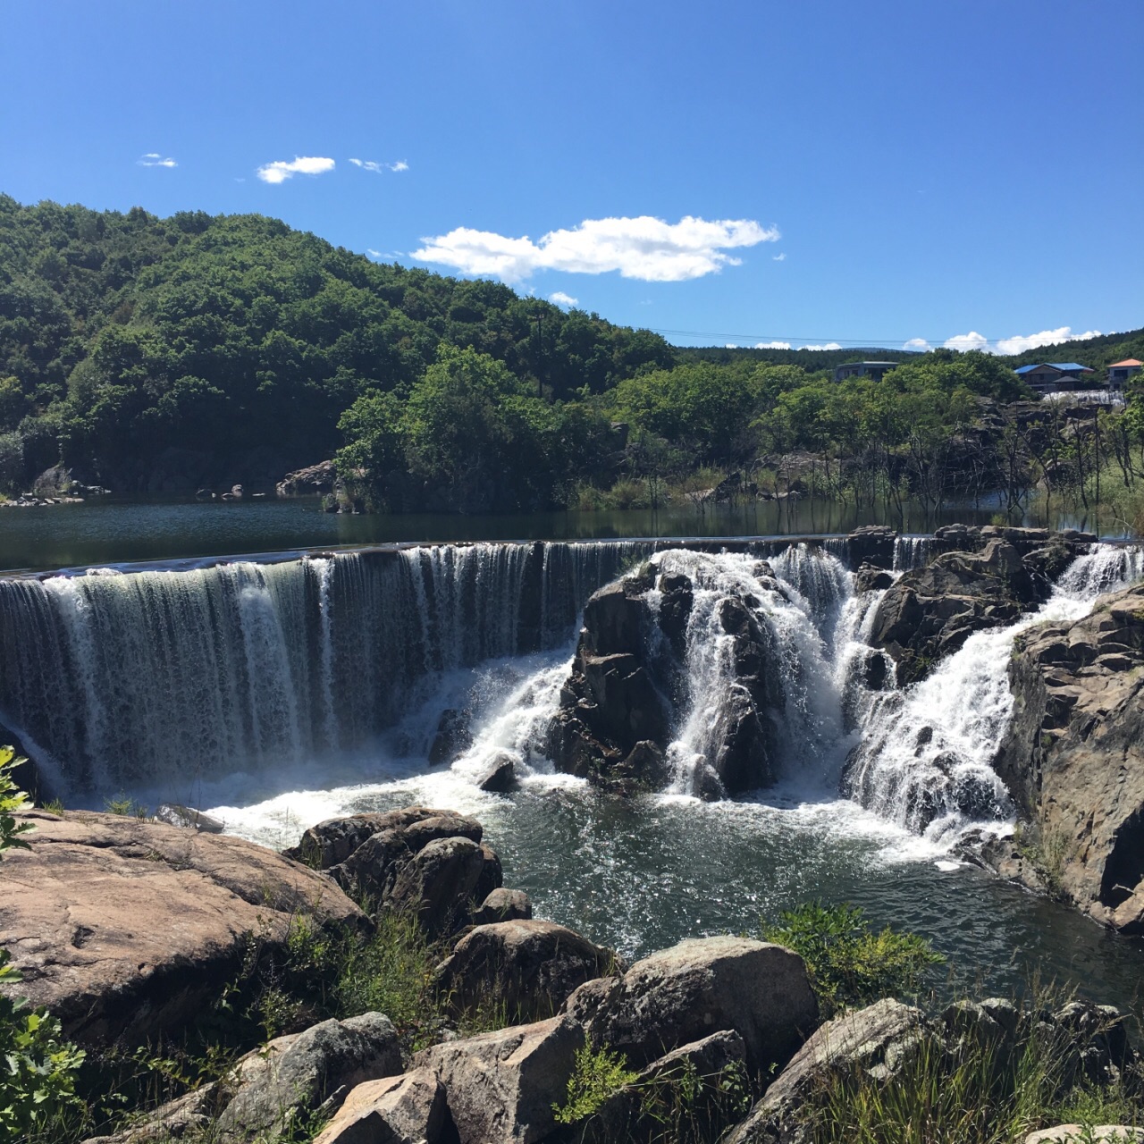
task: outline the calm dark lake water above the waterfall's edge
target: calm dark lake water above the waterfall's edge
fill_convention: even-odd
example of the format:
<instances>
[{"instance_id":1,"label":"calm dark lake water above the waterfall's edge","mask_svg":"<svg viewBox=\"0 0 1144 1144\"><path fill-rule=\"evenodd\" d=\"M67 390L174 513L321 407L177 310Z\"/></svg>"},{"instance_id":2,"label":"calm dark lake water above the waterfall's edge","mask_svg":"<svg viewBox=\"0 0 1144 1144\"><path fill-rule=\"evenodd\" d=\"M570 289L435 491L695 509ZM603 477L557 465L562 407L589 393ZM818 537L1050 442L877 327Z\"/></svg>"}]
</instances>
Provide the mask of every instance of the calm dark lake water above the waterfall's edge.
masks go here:
<instances>
[{"instance_id":1,"label":"calm dark lake water above the waterfall's edge","mask_svg":"<svg viewBox=\"0 0 1144 1144\"><path fill-rule=\"evenodd\" d=\"M745 508L530 513L502 516L351 516L317 499L243 502L93 500L0 509L0 572L49 571L419 541L607 540L626 537L770 537L848 532L890 523L901 532L940 524L988 524L995 508L951 508L927 518L906 505L900 519L823 501L763 501ZM1026 524L1043 521L1026 518ZM1055 517L1055 526L1083 521ZM1120 535L1120 533L1110 533Z\"/></svg>"}]
</instances>

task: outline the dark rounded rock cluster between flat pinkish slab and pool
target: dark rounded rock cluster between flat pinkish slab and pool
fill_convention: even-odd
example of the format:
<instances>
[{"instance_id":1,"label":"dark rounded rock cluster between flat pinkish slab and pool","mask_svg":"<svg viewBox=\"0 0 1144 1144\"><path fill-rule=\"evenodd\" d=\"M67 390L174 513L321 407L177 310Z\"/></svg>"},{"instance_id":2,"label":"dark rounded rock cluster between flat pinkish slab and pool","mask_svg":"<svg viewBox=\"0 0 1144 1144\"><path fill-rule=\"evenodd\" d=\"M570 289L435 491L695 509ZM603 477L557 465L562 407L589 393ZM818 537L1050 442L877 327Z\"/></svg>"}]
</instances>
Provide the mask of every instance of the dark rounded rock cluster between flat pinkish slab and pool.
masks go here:
<instances>
[{"instance_id":1,"label":"dark rounded rock cluster between flat pinkish slab and pool","mask_svg":"<svg viewBox=\"0 0 1144 1144\"><path fill-rule=\"evenodd\" d=\"M289 857L326 871L379 906L415 911L432 935L455 934L503 881L480 824L452 810L406 807L310 827Z\"/></svg>"}]
</instances>

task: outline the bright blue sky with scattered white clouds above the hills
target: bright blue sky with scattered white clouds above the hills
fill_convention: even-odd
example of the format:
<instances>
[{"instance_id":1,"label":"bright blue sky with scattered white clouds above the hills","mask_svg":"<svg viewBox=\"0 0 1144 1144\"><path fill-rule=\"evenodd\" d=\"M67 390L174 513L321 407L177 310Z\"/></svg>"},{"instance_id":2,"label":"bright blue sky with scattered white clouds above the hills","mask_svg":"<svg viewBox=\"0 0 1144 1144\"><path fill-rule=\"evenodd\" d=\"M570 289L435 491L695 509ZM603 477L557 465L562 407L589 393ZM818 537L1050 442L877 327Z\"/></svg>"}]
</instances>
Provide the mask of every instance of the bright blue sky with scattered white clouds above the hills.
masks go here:
<instances>
[{"instance_id":1,"label":"bright blue sky with scattered white clouds above the hills","mask_svg":"<svg viewBox=\"0 0 1144 1144\"><path fill-rule=\"evenodd\" d=\"M681 344L1144 326L1142 0L0 3L23 202L261 212Z\"/></svg>"}]
</instances>

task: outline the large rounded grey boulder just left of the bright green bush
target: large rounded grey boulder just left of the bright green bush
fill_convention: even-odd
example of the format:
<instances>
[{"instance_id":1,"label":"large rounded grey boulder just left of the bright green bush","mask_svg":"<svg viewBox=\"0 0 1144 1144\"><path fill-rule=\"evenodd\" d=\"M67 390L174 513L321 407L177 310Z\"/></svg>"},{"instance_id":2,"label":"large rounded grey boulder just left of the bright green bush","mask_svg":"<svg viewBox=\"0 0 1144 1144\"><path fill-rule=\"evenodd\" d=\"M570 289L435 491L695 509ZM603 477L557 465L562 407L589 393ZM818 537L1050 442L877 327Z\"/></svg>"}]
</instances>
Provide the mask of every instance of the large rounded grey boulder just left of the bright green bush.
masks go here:
<instances>
[{"instance_id":1,"label":"large rounded grey boulder just left of the bright green bush","mask_svg":"<svg viewBox=\"0 0 1144 1144\"><path fill-rule=\"evenodd\" d=\"M593 1044L637 1067L689 1041L733 1030L752 1068L784 1065L818 1025L818 1001L802 958L740 937L681 942L622 977L588 982L566 1011Z\"/></svg>"}]
</instances>

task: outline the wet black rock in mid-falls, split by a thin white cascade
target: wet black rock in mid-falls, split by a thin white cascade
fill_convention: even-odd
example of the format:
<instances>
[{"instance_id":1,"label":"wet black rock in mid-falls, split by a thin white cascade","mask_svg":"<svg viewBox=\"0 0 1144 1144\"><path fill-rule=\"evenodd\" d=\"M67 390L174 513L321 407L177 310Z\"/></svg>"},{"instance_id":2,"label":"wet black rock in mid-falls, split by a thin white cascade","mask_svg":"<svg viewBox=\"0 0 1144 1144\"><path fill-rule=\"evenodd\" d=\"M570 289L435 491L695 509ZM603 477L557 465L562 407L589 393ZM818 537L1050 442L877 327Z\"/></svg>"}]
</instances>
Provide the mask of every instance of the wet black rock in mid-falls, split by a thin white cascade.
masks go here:
<instances>
[{"instance_id":1,"label":"wet black rock in mid-falls, split by a thin white cascade","mask_svg":"<svg viewBox=\"0 0 1144 1144\"><path fill-rule=\"evenodd\" d=\"M765 563L760 562L757 574L782 591ZM694 599L688 575L648 564L588 601L572 675L548 729L548 753L558 769L619 792L669 780L667 747L689 700ZM718 627L733 638L734 680L721 706L710 757L697 777L696 793L710 799L773 781L772 713L782 701L760 601L726 595L716 606Z\"/></svg>"}]
</instances>

